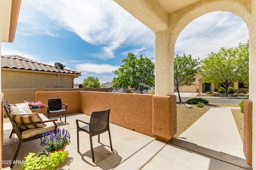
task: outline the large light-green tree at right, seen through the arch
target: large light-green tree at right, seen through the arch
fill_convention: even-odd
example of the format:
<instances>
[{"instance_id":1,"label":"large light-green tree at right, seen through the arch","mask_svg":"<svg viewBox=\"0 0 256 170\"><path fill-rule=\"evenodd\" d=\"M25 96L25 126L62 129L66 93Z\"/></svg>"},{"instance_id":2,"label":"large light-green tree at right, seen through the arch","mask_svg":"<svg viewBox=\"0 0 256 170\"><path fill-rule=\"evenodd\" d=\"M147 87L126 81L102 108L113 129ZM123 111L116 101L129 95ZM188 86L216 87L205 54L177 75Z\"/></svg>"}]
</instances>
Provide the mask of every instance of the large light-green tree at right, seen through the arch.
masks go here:
<instances>
[{"instance_id":1,"label":"large light-green tree at right, seen through the arch","mask_svg":"<svg viewBox=\"0 0 256 170\"><path fill-rule=\"evenodd\" d=\"M202 60L200 66L202 80L206 83L221 83L225 87L225 96L232 82L240 79L249 82L248 48L247 42L229 49L221 47L218 53L211 52L206 59Z\"/></svg>"}]
</instances>

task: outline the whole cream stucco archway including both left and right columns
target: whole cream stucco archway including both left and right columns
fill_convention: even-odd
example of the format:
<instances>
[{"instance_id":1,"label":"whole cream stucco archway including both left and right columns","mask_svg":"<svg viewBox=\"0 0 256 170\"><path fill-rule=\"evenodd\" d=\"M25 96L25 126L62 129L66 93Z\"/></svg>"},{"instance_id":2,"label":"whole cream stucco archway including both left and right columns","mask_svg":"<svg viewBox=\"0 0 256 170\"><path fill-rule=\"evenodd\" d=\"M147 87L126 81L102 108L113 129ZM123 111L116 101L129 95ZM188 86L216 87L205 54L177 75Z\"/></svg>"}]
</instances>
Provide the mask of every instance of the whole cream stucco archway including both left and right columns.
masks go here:
<instances>
[{"instance_id":1,"label":"whole cream stucco archway including both left and right columns","mask_svg":"<svg viewBox=\"0 0 256 170\"><path fill-rule=\"evenodd\" d=\"M246 6L247 5L247 6ZM252 6L246 4L245 1L236 1L236 0L216 0L209 2L207 0L200 1L194 5L187 6L177 12L170 14L169 18L169 27L164 31L160 31L156 33L156 55L155 55L155 64L156 64L156 94L158 95L173 95L173 62L174 62L174 47L180 32L190 23L192 20L207 14L209 12L215 11L225 11L232 12L236 14L240 18L242 18L249 30L249 44L250 44L250 99L252 101L256 100L254 95L254 80L252 78L253 73L256 72L253 65L255 65L255 21L252 16L250 10L255 11L255 2L252 2ZM252 9L250 9L250 7ZM165 86L164 86L165 85ZM255 99L254 99L255 98ZM173 105L173 104L172 104ZM254 105L254 104L253 104ZM246 106L245 106L246 107ZM255 108L255 107L254 107ZM173 113L174 114L174 113ZM256 114L256 110L253 110L253 115ZM248 149L246 145L244 145L244 150L246 153L246 159L250 166L255 166L256 160L256 149L254 146L256 145L256 126L255 116L251 121L252 123L252 140L245 141L245 143L249 143L252 146ZM250 122L249 122L250 123ZM247 130L247 129L246 129ZM255 168L255 167L254 167Z\"/></svg>"}]
</instances>

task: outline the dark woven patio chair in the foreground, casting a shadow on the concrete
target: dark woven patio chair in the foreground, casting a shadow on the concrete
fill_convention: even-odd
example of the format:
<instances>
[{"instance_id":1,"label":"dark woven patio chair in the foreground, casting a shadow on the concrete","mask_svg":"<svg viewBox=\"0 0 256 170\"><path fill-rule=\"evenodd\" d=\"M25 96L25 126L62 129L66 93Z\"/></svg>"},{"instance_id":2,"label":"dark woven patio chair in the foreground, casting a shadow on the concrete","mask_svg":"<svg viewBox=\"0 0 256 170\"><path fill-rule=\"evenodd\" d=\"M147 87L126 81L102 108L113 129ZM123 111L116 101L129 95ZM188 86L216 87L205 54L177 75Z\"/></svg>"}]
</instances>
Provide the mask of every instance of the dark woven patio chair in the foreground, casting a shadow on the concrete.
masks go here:
<instances>
[{"instance_id":1,"label":"dark woven patio chair in the foreground, casting a shadow on the concrete","mask_svg":"<svg viewBox=\"0 0 256 170\"><path fill-rule=\"evenodd\" d=\"M90 123L87 123L85 121L76 119L76 127L77 127L77 152L79 152L79 132L84 131L90 135L90 145L91 145L91 151L92 151L92 162L95 162L94 160L94 152L92 147L92 137L98 135L98 142L100 142L100 134L108 131L109 135L109 141L110 141L110 148L111 151L113 151L112 148L112 142L110 137L110 129L109 129L109 113L110 109L104 110L104 111L94 111L92 112ZM85 126L79 126L78 122L85 123L87 125Z\"/></svg>"}]
</instances>

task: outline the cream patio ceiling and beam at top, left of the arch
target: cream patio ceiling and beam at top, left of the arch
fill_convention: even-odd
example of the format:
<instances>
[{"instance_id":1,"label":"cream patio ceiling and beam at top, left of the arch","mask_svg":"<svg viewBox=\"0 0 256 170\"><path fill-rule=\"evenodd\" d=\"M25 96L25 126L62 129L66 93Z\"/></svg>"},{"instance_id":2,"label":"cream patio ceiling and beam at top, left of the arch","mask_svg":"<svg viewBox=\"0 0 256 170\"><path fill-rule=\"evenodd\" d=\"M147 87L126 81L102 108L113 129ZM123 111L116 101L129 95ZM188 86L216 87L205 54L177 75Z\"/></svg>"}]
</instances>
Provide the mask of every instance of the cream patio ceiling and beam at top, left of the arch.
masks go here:
<instances>
[{"instance_id":1,"label":"cream patio ceiling and beam at top, left of the arch","mask_svg":"<svg viewBox=\"0 0 256 170\"><path fill-rule=\"evenodd\" d=\"M155 33L169 27L169 15L199 0L114 0Z\"/></svg>"}]
</instances>

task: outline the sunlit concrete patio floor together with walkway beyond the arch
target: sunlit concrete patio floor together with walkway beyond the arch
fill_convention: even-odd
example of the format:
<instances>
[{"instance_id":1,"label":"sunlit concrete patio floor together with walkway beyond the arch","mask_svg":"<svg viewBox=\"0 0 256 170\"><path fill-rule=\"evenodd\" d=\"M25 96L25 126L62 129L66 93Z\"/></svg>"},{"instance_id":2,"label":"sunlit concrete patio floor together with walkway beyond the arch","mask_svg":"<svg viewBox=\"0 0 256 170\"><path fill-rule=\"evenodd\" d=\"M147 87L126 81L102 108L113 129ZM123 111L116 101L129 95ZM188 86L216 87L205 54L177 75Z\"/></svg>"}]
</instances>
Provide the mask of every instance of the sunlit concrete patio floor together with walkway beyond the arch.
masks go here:
<instances>
[{"instance_id":1,"label":"sunlit concrete patio floor together with walkway beyond the arch","mask_svg":"<svg viewBox=\"0 0 256 170\"><path fill-rule=\"evenodd\" d=\"M215 109L215 108L212 108ZM221 113L226 113L229 108L218 109ZM210 109L211 110L211 109ZM210 111L209 110L209 111ZM230 109L229 109L230 110ZM172 139L170 143L159 141L153 137L143 135L136 131L120 127L118 125L110 124L112 145L114 152L110 151L110 143L108 133L105 132L100 135L100 143L98 138L93 137L93 147L95 161L92 162L90 151L90 139L87 133L80 132L80 152L77 152L76 140L76 119L90 121L90 116L83 113L74 113L67 115L67 124L64 124L58 119L58 127L68 129L71 134L71 144L66 147L69 155L65 162L60 163L56 170L96 170L96 169L115 169L115 170L244 170L251 169L247 165L243 156L242 141L239 137L238 130L233 123L222 122L221 129L230 129L228 133L234 133L232 142L223 138L227 132L222 134L225 130L213 129L214 132L209 132L211 135L204 136L204 129L206 126L214 126L214 122L220 117L220 114L211 116L213 112L206 112L194 125L182 133L179 138ZM111 113L110 113L111 114ZM226 114L225 114L226 115ZM231 114L232 115L232 114ZM230 113L226 115L230 119ZM51 117L55 119L58 117ZM210 120L209 120L210 119ZM222 119L222 117L220 117ZM202 120L202 121L201 121ZM202 126L203 121L209 121ZM229 120L227 120L229 121ZM232 120L230 120L232 122ZM198 123L199 122L199 123ZM226 125L225 125L226 124ZM216 126L216 124L215 124ZM198 129L200 127L200 129ZM211 128L211 127L209 127ZM235 128L235 129L234 129ZM3 146L3 160L12 160L16 147L18 146L18 139L12 136L10 123L4 123L4 146ZM232 130L233 129L233 130ZM209 129L207 129L208 131ZM236 134L238 133L238 134ZM218 136L218 137L217 137ZM223 138L223 139L222 139ZM202 140L204 139L204 140ZM215 140L212 140L215 139ZM223 140L228 145L219 147ZM239 141L240 140L240 141ZM212 142L212 143L211 143ZM214 147L214 145L218 145ZM233 147L233 146L236 147ZM237 147L239 146L239 147ZM225 148L223 150L222 148ZM231 152L229 152L230 148ZM235 151L234 151L235 150ZM40 146L40 139L30 141L22 144L17 160L25 160L24 156L28 152L42 151ZM3 164L2 167L8 167L9 164ZM15 164L13 170L20 170L21 166Z\"/></svg>"}]
</instances>

